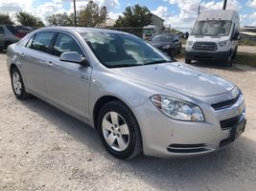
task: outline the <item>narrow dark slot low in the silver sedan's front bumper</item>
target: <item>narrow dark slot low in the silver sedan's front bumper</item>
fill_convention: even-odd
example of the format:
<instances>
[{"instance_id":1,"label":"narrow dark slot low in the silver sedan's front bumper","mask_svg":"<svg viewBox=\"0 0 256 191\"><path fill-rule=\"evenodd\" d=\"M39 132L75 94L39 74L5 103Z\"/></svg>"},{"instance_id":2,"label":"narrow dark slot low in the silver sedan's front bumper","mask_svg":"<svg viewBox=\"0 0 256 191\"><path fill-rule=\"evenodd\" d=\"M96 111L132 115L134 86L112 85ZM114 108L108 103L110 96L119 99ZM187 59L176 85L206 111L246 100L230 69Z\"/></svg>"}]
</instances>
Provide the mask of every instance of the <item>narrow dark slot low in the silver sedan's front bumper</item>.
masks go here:
<instances>
[{"instance_id":1,"label":"narrow dark slot low in the silver sedan's front bumper","mask_svg":"<svg viewBox=\"0 0 256 191\"><path fill-rule=\"evenodd\" d=\"M208 151L206 144L170 144L167 150L171 153L199 153Z\"/></svg>"}]
</instances>

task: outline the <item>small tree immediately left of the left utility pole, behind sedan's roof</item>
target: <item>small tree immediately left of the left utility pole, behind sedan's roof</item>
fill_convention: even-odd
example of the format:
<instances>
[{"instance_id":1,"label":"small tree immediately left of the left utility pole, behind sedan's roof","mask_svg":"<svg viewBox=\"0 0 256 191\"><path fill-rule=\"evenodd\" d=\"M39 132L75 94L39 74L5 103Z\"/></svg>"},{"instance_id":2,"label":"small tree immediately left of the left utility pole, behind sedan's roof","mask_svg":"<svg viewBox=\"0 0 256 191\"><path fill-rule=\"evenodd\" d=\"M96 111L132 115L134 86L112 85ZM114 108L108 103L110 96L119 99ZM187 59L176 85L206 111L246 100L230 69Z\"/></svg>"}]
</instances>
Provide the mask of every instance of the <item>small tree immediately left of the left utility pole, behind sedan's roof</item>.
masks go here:
<instances>
[{"instance_id":1,"label":"small tree immediately left of the left utility pole, behind sedan's roof","mask_svg":"<svg viewBox=\"0 0 256 191\"><path fill-rule=\"evenodd\" d=\"M50 25L54 26L73 26L74 25L74 18L73 15L68 15L66 12L52 14L46 18L47 22Z\"/></svg>"}]
</instances>

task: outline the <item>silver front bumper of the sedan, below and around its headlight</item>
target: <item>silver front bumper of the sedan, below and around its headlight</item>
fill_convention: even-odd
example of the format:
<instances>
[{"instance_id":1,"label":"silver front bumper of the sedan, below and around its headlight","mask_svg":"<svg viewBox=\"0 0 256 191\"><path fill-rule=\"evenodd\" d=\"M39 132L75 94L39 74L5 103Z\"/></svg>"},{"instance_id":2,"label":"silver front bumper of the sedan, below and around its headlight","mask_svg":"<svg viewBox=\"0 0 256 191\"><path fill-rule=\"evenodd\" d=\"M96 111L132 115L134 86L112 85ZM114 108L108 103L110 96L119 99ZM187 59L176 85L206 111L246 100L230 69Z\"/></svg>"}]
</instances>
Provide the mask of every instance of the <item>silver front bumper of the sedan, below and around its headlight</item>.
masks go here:
<instances>
[{"instance_id":1,"label":"silver front bumper of the sedan, below and around its headlight","mask_svg":"<svg viewBox=\"0 0 256 191\"><path fill-rule=\"evenodd\" d=\"M166 117L148 99L144 105L133 108L138 117L143 138L144 154L153 157L193 156L213 152L234 140L234 130L245 123L244 96L229 108L215 111L202 108L204 122L179 121ZM237 117L236 124L221 128L221 120ZM244 124L245 125L245 124ZM240 134L244 127L240 128ZM238 132L239 133L239 132Z\"/></svg>"}]
</instances>

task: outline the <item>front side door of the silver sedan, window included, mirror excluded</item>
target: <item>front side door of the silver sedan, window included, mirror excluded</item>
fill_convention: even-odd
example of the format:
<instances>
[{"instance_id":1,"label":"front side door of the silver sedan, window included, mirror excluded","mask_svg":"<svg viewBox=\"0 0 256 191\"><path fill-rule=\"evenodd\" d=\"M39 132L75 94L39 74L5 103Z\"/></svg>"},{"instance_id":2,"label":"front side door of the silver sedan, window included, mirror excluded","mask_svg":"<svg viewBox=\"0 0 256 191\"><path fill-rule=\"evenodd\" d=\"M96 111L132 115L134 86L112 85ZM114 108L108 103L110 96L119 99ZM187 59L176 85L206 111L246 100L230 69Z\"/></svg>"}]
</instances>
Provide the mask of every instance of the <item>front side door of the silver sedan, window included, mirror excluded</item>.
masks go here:
<instances>
[{"instance_id":1,"label":"front side door of the silver sedan, window included, mirror excluded","mask_svg":"<svg viewBox=\"0 0 256 191\"><path fill-rule=\"evenodd\" d=\"M84 56L81 45L71 34L59 32L52 49L52 66L45 71L48 97L68 111L86 118L91 68L59 60L60 54L65 52Z\"/></svg>"}]
</instances>

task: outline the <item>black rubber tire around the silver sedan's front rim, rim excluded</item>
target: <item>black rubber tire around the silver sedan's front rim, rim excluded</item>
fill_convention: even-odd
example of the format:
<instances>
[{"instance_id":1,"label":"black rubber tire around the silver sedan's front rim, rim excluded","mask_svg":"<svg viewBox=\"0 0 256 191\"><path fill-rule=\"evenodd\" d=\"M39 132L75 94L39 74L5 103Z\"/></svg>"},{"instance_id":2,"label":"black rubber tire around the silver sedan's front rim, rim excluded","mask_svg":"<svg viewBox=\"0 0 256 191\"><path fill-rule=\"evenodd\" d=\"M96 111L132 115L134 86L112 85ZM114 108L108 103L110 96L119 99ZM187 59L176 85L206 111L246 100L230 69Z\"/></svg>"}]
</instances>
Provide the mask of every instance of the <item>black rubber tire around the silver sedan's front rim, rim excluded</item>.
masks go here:
<instances>
[{"instance_id":1,"label":"black rubber tire around the silver sedan's front rim, rim excluded","mask_svg":"<svg viewBox=\"0 0 256 191\"><path fill-rule=\"evenodd\" d=\"M125 108L127 107L124 104L122 104L121 102L117 102L117 101L112 101L109 103L106 103L105 106L102 108L102 110L100 111L99 117L97 119L97 129L99 132L99 136L102 140L102 143L104 144L106 150L113 155L114 157L118 158L118 159L128 159L134 151L135 148L135 117L133 118L133 115L131 113L128 113L127 109ZM102 129L102 121L103 118L105 117L105 114L108 112L116 112L118 113L121 117L123 117L125 119L125 121L128 124L128 131L129 131L129 143L128 143L128 148L124 151L115 151L114 149L112 149L107 142L105 141L104 138L104 134L103 134L103 129Z\"/></svg>"}]
</instances>

